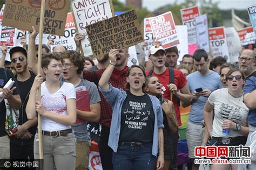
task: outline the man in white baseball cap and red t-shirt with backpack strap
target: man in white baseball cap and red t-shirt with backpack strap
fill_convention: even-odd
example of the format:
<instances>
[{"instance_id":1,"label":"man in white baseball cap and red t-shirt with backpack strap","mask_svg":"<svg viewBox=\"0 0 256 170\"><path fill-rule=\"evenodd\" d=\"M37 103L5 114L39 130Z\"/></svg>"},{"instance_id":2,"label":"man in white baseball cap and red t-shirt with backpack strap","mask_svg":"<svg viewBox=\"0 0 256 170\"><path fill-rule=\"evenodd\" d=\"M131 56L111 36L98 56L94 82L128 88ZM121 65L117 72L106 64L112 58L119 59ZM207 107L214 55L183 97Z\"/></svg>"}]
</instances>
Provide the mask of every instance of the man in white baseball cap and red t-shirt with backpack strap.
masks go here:
<instances>
[{"instance_id":1,"label":"man in white baseball cap and red t-shirt with backpack strap","mask_svg":"<svg viewBox=\"0 0 256 170\"><path fill-rule=\"evenodd\" d=\"M176 111L176 116L178 120L178 125L181 125L181 119L180 119L180 110L179 110L179 104L180 101L188 102L190 101L191 94L187 86L187 80L186 77L183 75L183 73L178 70L171 67L165 66L166 61L166 51L165 49L160 45L153 45L149 50L149 61L152 62L153 69L147 70L147 75L156 76L161 84L163 84L162 87L162 93L163 97L167 100L171 100L171 92L173 94L172 102L174 104L174 108ZM170 75L170 73L173 73ZM174 76L174 82L170 83L170 76ZM171 138L171 139L170 139ZM164 131L164 140L171 140L171 146L167 146L164 148L164 154L165 154L165 164L170 165L170 169L177 169L177 147L178 147L178 129L177 131ZM167 150L169 147L172 147L173 152L171 150Z\"/></svg>"}]
</instances>

